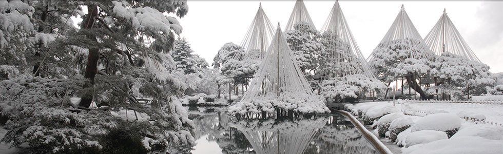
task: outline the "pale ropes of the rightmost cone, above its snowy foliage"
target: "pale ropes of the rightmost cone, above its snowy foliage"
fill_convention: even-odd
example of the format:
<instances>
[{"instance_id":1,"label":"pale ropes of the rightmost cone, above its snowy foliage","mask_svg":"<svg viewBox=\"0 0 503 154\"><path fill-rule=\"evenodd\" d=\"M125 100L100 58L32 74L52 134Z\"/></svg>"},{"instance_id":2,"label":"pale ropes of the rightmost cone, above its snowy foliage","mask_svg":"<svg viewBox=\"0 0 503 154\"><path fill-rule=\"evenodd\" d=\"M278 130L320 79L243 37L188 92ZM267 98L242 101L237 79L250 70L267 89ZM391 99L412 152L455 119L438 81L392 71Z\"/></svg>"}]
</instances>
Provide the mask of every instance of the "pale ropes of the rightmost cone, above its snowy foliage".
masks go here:
<instances>
[{"instance_id":1,"label":"pale ropes of the rightmost cone, above its snowy foliage","mask_svg":"<svg viewBox=\"0 0 503 154\"><path fill-rule=\"evenodd\" d=\"M470 61L480 62L452 23L445 9L437 24L424 37L424 42L436 55L442 55L443 52L451 52Z\"/></svg>"}]
</instances>

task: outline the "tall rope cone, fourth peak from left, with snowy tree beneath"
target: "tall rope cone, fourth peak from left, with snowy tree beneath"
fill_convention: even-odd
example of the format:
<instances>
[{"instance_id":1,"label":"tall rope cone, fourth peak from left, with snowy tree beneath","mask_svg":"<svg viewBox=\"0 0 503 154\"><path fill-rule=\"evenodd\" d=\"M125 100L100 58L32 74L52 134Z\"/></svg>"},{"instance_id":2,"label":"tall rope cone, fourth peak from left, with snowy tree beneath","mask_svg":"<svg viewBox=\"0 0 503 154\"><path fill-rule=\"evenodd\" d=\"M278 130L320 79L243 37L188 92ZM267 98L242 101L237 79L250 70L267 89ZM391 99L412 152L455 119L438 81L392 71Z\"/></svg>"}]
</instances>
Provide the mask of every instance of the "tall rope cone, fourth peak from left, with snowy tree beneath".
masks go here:
<instances>
[{"instance_id":1,"label":"tall rope cone, fourth peak from left, with snowy tree beneath","mask_svg":"<svg viewBox=\"0 0 503 154\"><path fill-rule=\"evenodd\" d=\"M326 98L357 98L363 89L378 90L384 85L375 79L356 44L344 14L336 1L321 28L320 70L322 94Z\"/></svg>"}]
</instances>

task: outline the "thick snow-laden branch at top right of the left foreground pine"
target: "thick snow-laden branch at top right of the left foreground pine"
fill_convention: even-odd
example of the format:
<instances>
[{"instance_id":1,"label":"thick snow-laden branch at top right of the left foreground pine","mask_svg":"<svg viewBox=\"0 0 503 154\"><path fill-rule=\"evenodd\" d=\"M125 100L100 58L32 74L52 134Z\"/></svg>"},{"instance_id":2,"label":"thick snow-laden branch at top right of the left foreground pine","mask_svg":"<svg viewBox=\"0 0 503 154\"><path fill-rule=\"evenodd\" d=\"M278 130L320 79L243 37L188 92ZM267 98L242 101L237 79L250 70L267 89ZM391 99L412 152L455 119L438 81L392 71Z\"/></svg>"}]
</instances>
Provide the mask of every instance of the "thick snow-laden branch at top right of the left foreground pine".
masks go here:
<instances>
[{"instance_id":1,"label":"thick snow-laden branch at top right of the left foreground pine","mask_svg":"<svg viewBox=\"0 0 503 154\"><path fill-rule=\"evenodd\" d=\"M161 33L182 33L182 26L177 18L166 16L163 12L150 7L130 8L127 2L113 1L113 13L132 23L134 29Z\"/></svg>"}]
</instances>

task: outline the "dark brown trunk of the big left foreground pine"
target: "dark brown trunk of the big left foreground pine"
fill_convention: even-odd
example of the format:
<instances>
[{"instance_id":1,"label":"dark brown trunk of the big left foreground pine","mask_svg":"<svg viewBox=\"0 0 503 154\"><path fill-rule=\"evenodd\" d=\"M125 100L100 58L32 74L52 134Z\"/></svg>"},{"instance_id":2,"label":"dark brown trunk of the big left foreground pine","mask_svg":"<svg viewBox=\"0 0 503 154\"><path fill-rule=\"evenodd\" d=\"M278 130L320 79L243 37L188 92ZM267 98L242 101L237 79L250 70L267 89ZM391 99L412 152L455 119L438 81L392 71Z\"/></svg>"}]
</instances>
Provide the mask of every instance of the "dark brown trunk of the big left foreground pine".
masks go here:
<instances>
[{"instance_id":1,"label":"dark brown trunk of the big left foreground pine","mask_svg":"<svg viewBox=\"0 0 503 154\"><path fill-rule=\"evenodd\" d=\"M91 29L94 25L95 18L98 15L98 6L96 5L88 5L87 10L89 12L87 16L87 20L85 23L85 29ZM96 40L96 36L92 34L86 34L86 37L94 42L98 42ZM94 85L94 77L96 76L96 73L98 73L98 60L100 58L100 49L99 48L94 48L90 47L89 48L89 54L87 56L87 66L86 66L86 71L84 72L84 78L89 79L89 83L84 85L83 88L89 88ZM93 100L93 93L90 91L87 94L84 94L81 99L81 103L79 104L80 107L85 107L88 108L89 105L91 105L91 102Z\"/></svg>"}]
</instances>

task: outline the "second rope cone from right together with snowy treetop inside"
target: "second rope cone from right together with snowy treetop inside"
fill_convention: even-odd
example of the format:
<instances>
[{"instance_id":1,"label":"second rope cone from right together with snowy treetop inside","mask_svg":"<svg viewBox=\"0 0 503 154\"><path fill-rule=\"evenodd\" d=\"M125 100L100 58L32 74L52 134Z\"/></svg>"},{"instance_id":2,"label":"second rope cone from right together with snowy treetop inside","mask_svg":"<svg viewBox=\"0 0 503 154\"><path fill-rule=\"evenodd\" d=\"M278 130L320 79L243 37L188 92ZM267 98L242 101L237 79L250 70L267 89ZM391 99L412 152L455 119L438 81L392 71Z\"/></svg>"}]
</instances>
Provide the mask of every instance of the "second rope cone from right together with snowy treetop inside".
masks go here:
<instances>
[{"instance_id":1,"label":"second rope cone from right together with snowy treetop inside","mask_svg":"<svg viewBox=\"0 0 503 154\"><path fill-rule=\"evenodd\" d=\"M401 74L427 73L433 53L401 8L390 29L367 61L377 71L378 79L393 81Z\"/></svg>"}]
</instances>

